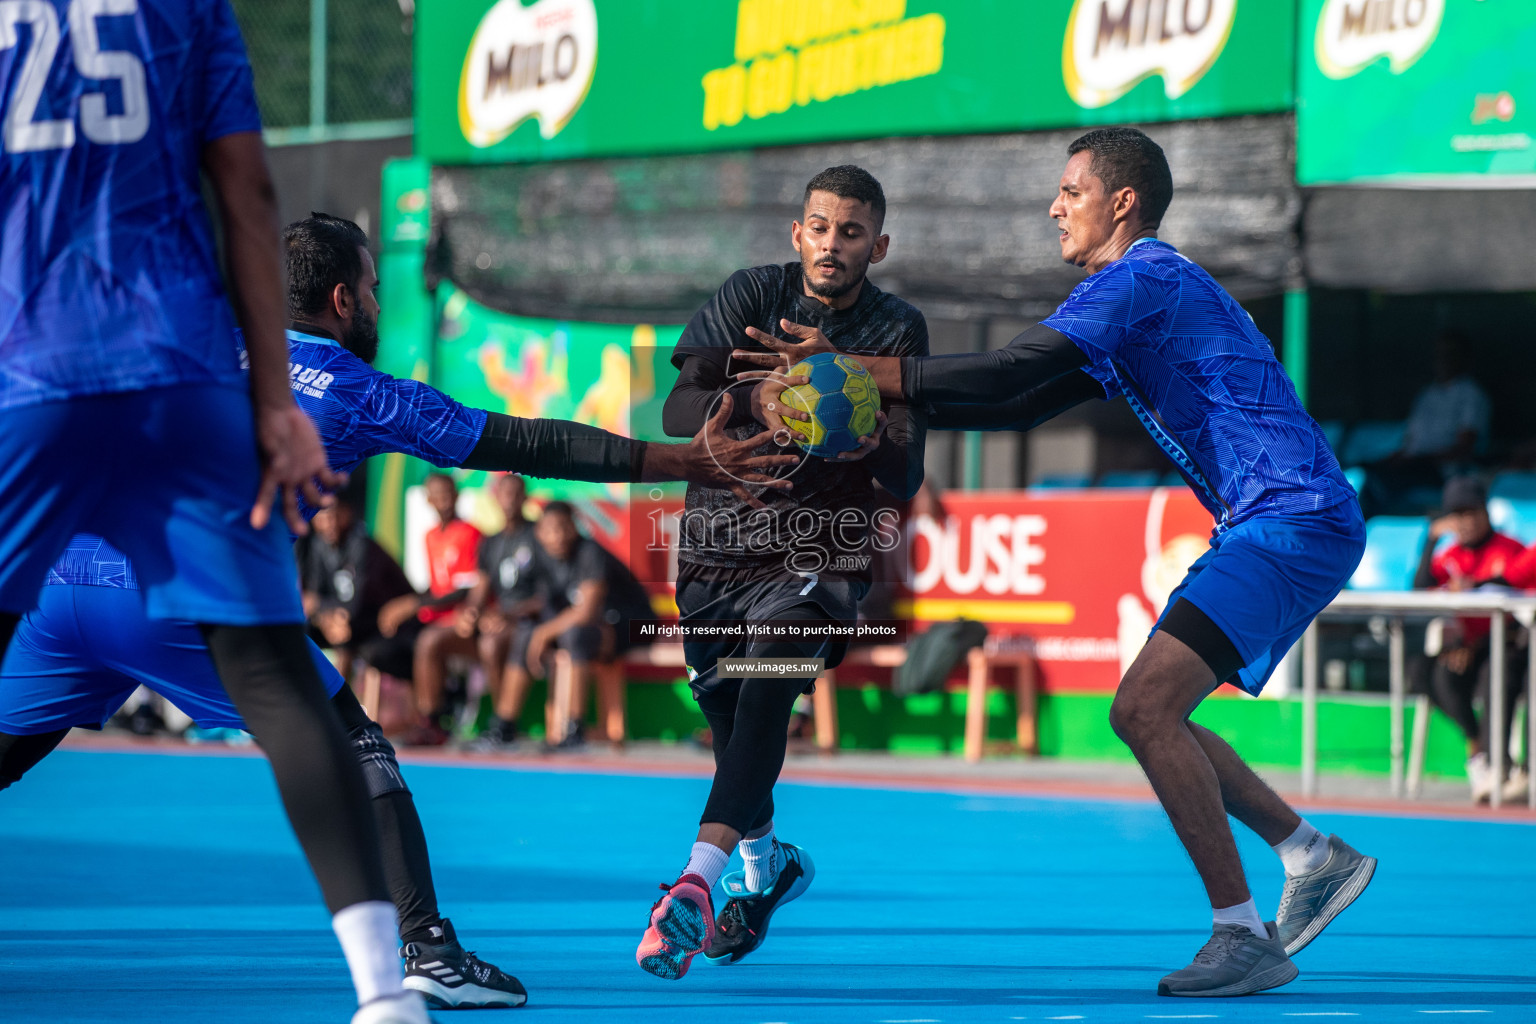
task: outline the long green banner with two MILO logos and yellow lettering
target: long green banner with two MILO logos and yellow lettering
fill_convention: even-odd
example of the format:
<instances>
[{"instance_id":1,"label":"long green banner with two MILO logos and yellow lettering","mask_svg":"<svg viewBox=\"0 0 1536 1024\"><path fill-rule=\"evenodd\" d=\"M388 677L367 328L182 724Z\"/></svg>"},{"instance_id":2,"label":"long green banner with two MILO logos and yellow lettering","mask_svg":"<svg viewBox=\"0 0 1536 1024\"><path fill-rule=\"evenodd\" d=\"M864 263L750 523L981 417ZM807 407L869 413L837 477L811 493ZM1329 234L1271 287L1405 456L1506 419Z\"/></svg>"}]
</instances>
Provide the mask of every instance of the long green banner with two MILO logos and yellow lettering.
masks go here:
<instances>
[{"instance_id":1,"label":"long green banner with two MILO logos and yellow lettering","mask_svg":"<svg viewBox=\"0 0 1536 1024\"><path fill-rule=\"evenodd\" d=\"M418 0L432 163L1287 111L1295 0Z\"/></svg>"}]
</instances>

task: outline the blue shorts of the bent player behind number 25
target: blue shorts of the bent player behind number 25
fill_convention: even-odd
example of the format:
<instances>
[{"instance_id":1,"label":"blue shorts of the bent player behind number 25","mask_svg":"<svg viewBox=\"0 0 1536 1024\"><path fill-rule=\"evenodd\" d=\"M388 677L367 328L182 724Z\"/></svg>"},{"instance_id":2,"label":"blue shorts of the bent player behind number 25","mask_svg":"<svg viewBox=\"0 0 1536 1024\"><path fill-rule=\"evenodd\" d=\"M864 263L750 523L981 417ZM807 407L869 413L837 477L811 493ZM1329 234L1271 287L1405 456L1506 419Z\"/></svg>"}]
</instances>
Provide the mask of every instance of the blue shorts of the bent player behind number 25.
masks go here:
<instances>
[{"instance_id":1,"label":"blue shorts of the bent player behind number 25","mask_svg":"<svg viewBox=\"0 0 1536 1024\"><path fill-rule=\"evenodd\" d=\"M326 694L335 695L344 685L341 672L318 646L309 646ZM138 686L200 726L246 728L195 625L151 619L137 590L45 586L0 668L0 732L98 729Z\"/></svg>"}]
</instances>

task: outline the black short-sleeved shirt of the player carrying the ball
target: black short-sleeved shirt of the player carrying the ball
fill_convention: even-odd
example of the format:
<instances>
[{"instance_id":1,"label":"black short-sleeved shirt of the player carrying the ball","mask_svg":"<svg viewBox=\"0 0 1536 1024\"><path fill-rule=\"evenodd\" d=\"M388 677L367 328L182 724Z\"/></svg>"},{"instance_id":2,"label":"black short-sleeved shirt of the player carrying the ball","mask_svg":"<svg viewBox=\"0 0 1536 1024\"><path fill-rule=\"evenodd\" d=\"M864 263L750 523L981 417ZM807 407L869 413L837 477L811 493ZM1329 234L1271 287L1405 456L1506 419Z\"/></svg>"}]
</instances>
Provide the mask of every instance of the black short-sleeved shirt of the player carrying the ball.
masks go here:
<instances>
[{"instance_id":1,"label":"black short-sleeved shirt of the player carrying the ball","mask_svg":"<svg viewBox=\"0 0 1536 1024\"><path fill-rule=\"evenodd\" d=\"M668 434L693 436L731 381L731 348L762 348L746 336L757 327L783 336L780 319L819 327L839 350L874 356L928 355L928 322L900 298L863 282L859 301L834 310L805 295L799 263L737 270L677 341L673 362L682 370L667 398ZM730 388L736 404L731 436L763 434L760 451L782 451L751 418L748 385ZM879 508L874 481L909 497L923 481L923 416L903 402L886 405L889 427L880 448L852 464L806 457L788 494L768 491L768 510L753 510L728 490L688 487L679 530L679 579L794 579L805 571L865 579L868 540ZM842 519L839 519L842 516Z\"/></svg>"}]
</instances>

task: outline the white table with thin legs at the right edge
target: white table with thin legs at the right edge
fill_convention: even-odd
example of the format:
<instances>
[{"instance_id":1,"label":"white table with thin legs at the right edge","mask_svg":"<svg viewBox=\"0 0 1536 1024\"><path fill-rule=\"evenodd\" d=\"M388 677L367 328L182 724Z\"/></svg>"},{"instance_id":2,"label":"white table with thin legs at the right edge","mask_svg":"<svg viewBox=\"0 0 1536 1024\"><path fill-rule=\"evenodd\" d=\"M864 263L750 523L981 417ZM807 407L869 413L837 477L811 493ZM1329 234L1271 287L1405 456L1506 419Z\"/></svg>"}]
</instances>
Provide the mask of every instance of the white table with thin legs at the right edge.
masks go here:
<instances>
[{"instance_id":1,"label":"white table with thin legs at the right edge","mask_svg":"<svg viewBox=\"0 0 1536 1024\"><path fill-rule=\"evenodd\" d=\"M1490 743L1488 761L1495 778L1504 777L1504 720L1510 708L1504 706L1505 679L1505 616L1514 620L1530 636L1527 657L1530 668L1525 676L1525 722L1530 729L1525 749L1536 749L1536 594L1519 591L1344 591L1318 616L1322 619L1389 617L1390 659L1390 706L1392 706L1392 794L1402 797L1402 708L1407 692L1402 651L1402 623L1405 619L1435 619L1439 616L1487 616L1490 619L1490 679L1488 708ZM1421 728L1416 723L1416 728ZM1307 797L1318 791L1318 623L1313 622L1301 637L1301 792ZM1501 788L1493 788L1490 803L1501 803ZM1530 806L1536 808L1536 786L1530 789Z\"/></svg>"}]
</instances>

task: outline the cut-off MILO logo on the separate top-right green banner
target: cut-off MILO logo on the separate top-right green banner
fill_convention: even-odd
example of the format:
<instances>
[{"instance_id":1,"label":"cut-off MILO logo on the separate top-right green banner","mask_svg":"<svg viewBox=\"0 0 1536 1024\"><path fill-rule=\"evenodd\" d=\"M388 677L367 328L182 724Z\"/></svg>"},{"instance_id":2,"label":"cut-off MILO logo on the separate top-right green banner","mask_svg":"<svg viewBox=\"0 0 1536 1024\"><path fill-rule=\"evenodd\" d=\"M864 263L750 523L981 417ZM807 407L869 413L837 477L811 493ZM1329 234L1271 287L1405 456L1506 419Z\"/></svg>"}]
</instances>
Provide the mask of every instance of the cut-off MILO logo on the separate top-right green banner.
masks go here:
<instances>
[{"instance_id":1,"label":"cut-off MILO logo on the separate top-right green banner","mask_svg":"<svg viewBox=\"0 0 1536 1024\"><path fill-rule=\"evenodd\" d=\"M1349 78L1385 57L1401 75L1435 41L1444 17L1445 0L1327 0L1318 18L1318 69Z\"/></svg>"}]
</instances>

